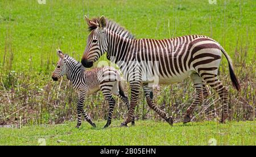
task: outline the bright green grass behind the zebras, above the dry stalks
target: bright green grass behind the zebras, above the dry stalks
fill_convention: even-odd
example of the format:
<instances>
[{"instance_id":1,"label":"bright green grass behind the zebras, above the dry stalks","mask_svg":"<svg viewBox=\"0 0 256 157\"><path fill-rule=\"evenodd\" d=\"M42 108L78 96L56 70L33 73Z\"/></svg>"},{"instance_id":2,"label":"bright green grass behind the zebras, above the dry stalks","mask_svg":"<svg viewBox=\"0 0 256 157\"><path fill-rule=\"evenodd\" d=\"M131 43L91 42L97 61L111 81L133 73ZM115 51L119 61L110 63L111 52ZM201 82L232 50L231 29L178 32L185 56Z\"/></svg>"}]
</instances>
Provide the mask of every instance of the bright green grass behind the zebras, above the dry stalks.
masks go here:
<instances>
[{"instance_id":1,"label":"bright green grass behind the zebras, above the dry stalks","mask_svg":"<svg viewBox=\"0 0 256 157\"><path fill-rule=\"evenodd\" d=\"M51 72L56 48L81 59L88 36L84 15L105 15L137 38L200 34L217 40L233 56L247 48L255 57L255 1L0 1L0 65L13 51L13 70ZM170 27L168 27L168 23ZM29 68L30 67L30 68ZM50 71L49 71L50 70Z\"/></svg>"}]
</instances>

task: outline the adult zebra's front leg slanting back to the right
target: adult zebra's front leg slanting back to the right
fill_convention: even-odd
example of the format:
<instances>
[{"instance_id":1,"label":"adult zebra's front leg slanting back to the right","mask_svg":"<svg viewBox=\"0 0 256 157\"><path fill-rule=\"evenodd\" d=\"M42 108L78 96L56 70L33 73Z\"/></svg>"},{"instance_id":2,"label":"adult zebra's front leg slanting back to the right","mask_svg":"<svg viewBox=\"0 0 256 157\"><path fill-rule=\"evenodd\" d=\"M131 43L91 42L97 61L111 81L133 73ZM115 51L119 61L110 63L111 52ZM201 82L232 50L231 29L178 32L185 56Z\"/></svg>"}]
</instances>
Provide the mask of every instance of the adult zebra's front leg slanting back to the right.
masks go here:
<instances>
[{"instance_id":1,"label":"adult zebra's front leg slanting back to the right","mask_svg":"<svg viewBox=\"0 0 256 157\"><path fill-rule=\"evenodd\" d=\"M160 117L162 117L170 125L172 125L174 123L172 117L168 117L168 115L164 111L160 110L155 105L155 102L153 100L153 91L152 91L153 89L152 89L152 87L149 87L148 84L143 84L143 90L144 90L145 97L146 97L146 100L147 100L147 105L150 106L151 109L156 111L156 113L158 113L158 115L160 115Z\"/></svg>"}]
</instances>

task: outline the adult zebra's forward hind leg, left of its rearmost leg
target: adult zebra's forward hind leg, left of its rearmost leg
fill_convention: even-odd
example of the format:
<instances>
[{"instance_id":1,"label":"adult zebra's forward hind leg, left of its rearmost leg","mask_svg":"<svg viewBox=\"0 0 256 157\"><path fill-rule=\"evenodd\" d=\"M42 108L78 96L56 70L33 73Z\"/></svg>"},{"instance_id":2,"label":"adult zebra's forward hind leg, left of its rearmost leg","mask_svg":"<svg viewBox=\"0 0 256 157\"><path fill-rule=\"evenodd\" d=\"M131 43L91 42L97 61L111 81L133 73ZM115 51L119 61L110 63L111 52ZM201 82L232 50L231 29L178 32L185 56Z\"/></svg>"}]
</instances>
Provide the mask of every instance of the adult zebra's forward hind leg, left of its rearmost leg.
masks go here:
<instances>
[{"instance_id":1,"label":"adult zebra's forward hind leg, left of its rearmost leg","mask_svg":"<svg viewBox=\"0 0 256 157\"><path fill-rule=\"evenodd\" d=\"M203 102L203 98L204 98L204 96L203 96L204 84L202 82L201 77L197 73L192 73L190 77L193 81L193 85L196 88L196 100L193 101L191 106L189 106L189 108L187 109L186 114L183 119L183 123L188 123L191 121L190 115L193 113L196 106Z\"/></svg>"}]
</instances>

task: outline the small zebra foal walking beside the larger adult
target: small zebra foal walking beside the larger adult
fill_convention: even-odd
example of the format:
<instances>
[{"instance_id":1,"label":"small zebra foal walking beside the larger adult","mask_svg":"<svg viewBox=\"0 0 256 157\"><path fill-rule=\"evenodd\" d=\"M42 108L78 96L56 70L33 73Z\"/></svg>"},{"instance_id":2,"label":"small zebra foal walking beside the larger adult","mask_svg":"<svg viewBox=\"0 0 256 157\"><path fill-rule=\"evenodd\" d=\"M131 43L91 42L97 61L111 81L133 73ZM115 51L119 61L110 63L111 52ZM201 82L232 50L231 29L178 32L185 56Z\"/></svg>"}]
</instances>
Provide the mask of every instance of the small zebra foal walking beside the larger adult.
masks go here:
<instances>
[{"instance_id":1,"label":"small zebra foal walking beside the larger adult","mask_svg":"<svg viewBox=\"0 0 256 157\"><path fill-rule=\"evenodd\" d=\"M85 70L81 63L71 56L65 55L60 49L57 50L57 54L59 56L59 61L57 62L55 71L52 73L52 80L57 81L66 75L67 79L72 82L73 88L77 91L77 128L81 126L81 115L84 115L86 121L89 122L90 125L96 127L96 124L93 123L85 113L84 101L86 96L96 93L98 90L101 90L109 104L108 121L104 128L108 127L112 121L112 114L115 106L113 94L121 98L127 109L130 108L130 102L121 86L122 78L117 70L111 67ZM134 118L132 123L134 125Z\"/></svg>"}]
</instances>

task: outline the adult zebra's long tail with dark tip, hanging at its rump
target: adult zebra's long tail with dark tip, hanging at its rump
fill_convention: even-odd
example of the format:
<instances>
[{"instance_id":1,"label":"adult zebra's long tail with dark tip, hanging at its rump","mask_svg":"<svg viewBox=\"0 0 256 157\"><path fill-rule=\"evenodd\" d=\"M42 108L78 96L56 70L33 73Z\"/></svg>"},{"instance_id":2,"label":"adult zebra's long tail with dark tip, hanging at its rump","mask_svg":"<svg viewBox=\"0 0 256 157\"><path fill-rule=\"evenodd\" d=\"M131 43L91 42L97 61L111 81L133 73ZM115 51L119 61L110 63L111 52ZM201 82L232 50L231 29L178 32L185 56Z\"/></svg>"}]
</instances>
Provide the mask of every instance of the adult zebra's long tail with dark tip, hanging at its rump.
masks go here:
<instances>
[{"instance_id":1,"label":"adult zebra's long tail with dark tip, hanging at its rump","mask_svg":"<svg viewBox=\"0 0 256 157\"><path fill-rule=\"evenodd\" d=\"M232 81L233 86L239 91L241 89L241 86L237 80L237 77L234 73L234 69L233 69L233 65L232 65L232 60L230 58L230 56L228 55L228 53L226 53L226 51L224 50L223 47L221 47L221 52L224 54L224 56L226 57L226 59L228 60L229 63L229 73L230 73L230 79Z\"/></svg>"}]
</instances>

